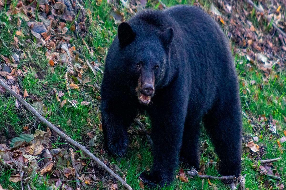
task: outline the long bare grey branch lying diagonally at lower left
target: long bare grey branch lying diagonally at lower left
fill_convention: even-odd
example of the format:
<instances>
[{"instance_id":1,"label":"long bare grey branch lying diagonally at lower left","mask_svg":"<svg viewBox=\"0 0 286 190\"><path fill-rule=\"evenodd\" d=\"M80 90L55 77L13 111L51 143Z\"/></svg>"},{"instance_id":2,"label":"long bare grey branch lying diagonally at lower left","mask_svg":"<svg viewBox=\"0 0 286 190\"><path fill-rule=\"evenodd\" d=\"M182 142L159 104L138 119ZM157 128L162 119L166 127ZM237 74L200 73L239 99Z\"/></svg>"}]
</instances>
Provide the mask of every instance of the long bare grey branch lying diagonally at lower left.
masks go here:
<instances>
[{"instance_id":1,"label":"long bare grey branch lying diagonally at lower left","mask_svg":"<svg viewBox=\"0 0 286 190\"><path fill-rule=\"evenodd\" d=\"M59 130L56 126L51 124L48 120L46 120L43 116L41 116L31 105L29 105L20 95L18 95L15 91L13 91L8 85L5 84L3 79L0 79L0 85L5 88L7 92L9 92L11 95L16 97L16 99L24 105L28 111L33 113L41 122L46 124L49 128L54 130L59 136L61 136L63 139L65 139L67 142L69 142L71 145L77 147L80 149L84 154L88 155L92 160L94 160L98 165L100 165L103 169L105 169L112 177L117 179L126 189L133 190L119 175L114 173L109 167L107 167L103 162L101 162L96 156L94 156L89 150L85 148L85 146L80 145L78 142L67 136L65 133L63 133L61 130Z\"/></svg>"}]
</instances>

